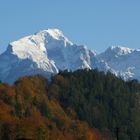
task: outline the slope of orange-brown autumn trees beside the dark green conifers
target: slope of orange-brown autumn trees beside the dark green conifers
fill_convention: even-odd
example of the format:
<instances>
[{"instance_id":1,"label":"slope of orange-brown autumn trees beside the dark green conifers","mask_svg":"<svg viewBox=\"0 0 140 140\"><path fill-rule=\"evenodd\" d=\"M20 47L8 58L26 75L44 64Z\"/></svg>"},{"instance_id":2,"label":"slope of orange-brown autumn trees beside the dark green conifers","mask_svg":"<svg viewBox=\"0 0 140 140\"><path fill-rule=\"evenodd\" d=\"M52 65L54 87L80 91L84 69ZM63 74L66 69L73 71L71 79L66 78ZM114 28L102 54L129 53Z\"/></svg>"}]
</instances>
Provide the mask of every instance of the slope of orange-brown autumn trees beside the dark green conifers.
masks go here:
<instances>
[{"instance_id":1,"label":"slope of orange-brown autumn trees beside the dark green conifers","mask_svg":"<svg viewBox=\"0 0 140 140\"><path fill-rule=\"evenodd\" d=\"M13 86L0 83L1 140L107 140L100 130L72 118L58 100L50 99L48 93L57 92L50 86L40 76L23 77Z\"/></svg>"}]
</instances>

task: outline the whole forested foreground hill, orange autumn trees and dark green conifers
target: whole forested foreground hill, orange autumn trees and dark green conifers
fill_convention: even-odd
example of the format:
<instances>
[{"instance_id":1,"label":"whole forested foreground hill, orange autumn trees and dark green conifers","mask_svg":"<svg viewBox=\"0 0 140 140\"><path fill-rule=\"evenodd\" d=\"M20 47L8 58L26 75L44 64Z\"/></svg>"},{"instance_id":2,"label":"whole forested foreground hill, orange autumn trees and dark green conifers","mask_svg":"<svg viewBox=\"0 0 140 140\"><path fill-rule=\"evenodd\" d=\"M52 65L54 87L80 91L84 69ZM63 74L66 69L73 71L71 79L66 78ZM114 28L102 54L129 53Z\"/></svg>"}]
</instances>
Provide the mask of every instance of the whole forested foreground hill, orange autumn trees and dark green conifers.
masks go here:
<instances>
[{"instance_id":1,"label":"whole forested foreground hill, orange autumn trees and dark green conifers","mask_svg":"<svg viewBox=\"0 0 140 140\"><path fill-rule=\"evenodd\" d=\"M140 84L97 70L0 84L0 139L138 140Z\"/></svg>"}]
</instances>

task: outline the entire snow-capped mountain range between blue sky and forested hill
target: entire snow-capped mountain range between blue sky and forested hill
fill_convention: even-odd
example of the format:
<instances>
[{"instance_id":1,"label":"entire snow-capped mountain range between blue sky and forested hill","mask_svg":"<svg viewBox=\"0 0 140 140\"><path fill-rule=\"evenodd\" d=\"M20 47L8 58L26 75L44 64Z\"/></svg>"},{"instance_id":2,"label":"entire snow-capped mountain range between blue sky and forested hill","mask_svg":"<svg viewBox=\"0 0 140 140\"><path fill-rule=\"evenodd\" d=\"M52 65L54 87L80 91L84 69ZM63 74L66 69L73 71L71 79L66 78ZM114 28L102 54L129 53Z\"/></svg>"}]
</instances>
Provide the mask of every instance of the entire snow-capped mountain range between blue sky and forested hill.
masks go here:
<instances>
[{"instance_id":1,"label":"entire snow-capped mountain range between blue sky and forested hill","mask_svg":"<svg viewBox=\"0 0 140 140\"><path fill-rule=\"evenodd\" d=\"M85 68L140 80L140 50L111 46L97 54L72 43L59 29L47 29L10 43L0 55L0 80L9 84L22 76L50 77L59 70Z\"/></svg>"}]
</instances>

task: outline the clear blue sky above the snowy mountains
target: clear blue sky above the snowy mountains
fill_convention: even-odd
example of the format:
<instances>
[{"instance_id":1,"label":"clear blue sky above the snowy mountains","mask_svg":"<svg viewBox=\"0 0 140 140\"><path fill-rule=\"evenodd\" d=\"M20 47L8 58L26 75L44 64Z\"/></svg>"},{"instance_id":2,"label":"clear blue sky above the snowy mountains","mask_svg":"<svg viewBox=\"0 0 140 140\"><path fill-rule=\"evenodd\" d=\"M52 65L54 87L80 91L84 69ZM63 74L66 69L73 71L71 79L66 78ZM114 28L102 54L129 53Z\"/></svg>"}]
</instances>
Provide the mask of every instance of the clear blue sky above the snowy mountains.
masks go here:
<instances>
[{"instance_id":1,"label":"clear blue sky above the snowy mountains","mask_svg":"<svg viewBox=\"0 0 140 140\"><path fill-rule=\"evenodd\" d=\"M0 0L0 53L47 28L97 52L111 45L140 48L140 0Z\"/></svg>"}]
</instances>

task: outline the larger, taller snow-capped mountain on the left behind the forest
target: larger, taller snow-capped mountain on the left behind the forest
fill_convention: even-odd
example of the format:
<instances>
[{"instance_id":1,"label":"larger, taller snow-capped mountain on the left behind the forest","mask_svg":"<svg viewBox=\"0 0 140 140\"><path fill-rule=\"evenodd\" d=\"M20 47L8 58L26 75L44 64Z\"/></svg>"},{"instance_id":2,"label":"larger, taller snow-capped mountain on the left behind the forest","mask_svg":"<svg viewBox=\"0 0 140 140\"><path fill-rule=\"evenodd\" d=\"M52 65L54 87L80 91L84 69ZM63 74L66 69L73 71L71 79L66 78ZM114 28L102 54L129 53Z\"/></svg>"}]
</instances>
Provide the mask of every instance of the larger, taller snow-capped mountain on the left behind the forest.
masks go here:
<instances>
[{"instance_id":1,"label":"larger, taller snow-capped mountain on the left behind the forest","mask_svg":"<svg viewBox=\"0 0 140 140\"><path fill-rule=\"evenodd\" d=\"M13 83L21 76L50 76L59 70L93 69L107 71L108 65L97 59L86 46L73 44L58 29L47 29L9 44L0 55L0 80Z\"/></svg>"}]
</instances>

